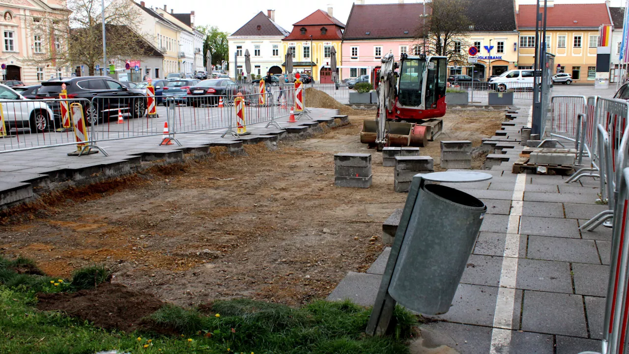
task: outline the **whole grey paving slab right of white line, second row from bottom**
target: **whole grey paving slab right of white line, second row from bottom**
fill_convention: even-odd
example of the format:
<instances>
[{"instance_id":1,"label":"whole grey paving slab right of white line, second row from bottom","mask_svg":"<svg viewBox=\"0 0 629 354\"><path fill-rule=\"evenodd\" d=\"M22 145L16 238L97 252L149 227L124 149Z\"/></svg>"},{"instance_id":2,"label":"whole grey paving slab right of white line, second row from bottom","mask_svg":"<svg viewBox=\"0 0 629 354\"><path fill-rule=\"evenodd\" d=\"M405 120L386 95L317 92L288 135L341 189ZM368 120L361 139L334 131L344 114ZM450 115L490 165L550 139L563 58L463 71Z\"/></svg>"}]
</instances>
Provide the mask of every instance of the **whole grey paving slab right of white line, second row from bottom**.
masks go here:
<instances>
[{"instance_id":1,"label":"whole grey paving slab right of white line, second row from bottom","mask_svg":"<svg viewBox=\"0 0 629 354\"><path fill-rule=\"evenodd\" d=\"M581 295L526 290L522 330L587 338Z\"/></svg>"}]
</instances>

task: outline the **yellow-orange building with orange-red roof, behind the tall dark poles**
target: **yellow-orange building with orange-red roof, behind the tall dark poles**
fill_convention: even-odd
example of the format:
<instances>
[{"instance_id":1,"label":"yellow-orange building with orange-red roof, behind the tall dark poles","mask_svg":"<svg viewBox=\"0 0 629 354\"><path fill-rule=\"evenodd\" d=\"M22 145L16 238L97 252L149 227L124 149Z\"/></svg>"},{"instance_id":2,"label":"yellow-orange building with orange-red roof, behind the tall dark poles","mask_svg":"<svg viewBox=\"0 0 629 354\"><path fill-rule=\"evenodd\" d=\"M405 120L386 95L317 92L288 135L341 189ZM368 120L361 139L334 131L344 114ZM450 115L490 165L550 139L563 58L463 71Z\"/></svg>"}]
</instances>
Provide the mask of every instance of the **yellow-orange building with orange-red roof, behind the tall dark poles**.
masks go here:
<instances>
[{"instance_id":1,"label":"yellow-orange building with orange-red roof, behind the tall dark poles","mask_svg":"<svg viewBox=\"0 0 629 354\"><path fill-rule=\"evenodd\" d=\"M535 60L535 5L517 8L520 41L518 67ZM540 12L544 11L543 6ZM594 83L599 26L611 25L608 4L554 4L547 1L547 52L555 55L553 72L572 74L574 83Z\"/></svg>"}]
</instances>

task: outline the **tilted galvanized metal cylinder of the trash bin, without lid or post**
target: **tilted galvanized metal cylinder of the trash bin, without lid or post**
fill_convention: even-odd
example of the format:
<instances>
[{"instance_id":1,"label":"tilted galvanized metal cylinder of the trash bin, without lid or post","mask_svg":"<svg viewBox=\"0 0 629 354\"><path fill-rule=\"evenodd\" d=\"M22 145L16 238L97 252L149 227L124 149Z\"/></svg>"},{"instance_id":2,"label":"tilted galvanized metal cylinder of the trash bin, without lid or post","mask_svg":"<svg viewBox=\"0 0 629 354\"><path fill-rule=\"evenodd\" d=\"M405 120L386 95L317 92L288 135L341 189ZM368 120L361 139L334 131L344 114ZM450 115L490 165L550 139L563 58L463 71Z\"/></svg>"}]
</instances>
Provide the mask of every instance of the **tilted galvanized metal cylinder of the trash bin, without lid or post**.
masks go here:
<instances>
[{"instance_id":1,"label":"tilted galvanized metal cylinder of the trash bin, without lid or post","mask_svg":"<svg viewBox=\"0 0 629 354\"><path fill-rule=\"evenodd\" d=\"M389 294L424 314L448 311L487 207L448 186L420 187Z\"/></svg>"}]
</instances>

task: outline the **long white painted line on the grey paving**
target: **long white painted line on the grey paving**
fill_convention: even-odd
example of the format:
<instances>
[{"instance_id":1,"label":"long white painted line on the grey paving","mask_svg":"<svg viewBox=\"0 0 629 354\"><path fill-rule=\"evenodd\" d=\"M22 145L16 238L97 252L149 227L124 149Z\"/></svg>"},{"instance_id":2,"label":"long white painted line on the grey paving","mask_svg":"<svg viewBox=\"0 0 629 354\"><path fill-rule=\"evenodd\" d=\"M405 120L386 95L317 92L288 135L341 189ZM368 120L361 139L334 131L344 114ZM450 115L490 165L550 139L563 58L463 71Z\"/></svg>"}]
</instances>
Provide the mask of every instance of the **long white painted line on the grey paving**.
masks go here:
<instances>
[{"instance_id":1,"label":"long white painted line on the grey paving","mask_svg":"<svg viewBox=\"0 0 629 354\"><path fill-rule=\"evenodd\" d=\"M520 173L516 177L513 195L511 195L509 224L504 239L503 265L500 271L500 285L496 297L494 324L491 330L490 354L509 354L509 346L511 346L515 286L518 278L518 256L520 254L520 222L525 186L526 174Z\"/></svg>"}]
</instances>

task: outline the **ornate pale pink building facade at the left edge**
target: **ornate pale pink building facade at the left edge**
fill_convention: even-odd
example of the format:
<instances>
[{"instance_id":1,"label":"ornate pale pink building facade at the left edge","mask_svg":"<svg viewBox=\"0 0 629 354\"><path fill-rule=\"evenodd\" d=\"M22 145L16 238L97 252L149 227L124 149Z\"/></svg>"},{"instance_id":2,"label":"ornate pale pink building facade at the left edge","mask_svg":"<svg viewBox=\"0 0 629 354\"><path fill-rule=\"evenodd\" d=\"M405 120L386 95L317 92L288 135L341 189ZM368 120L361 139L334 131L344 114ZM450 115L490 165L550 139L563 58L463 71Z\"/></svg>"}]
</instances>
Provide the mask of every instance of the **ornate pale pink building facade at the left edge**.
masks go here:
<instances>
[{"instance_id":1,"label":"ornate pale pink building facade at the left edge","mask_svg":"<svg viewBox=\"0 0 629 354\"><path fill-rule=\"evenodd\" d=\"M55 50L64 50L67 43L41 32L42 28L53 28L53 21L67 21L68 15L62 0L0 1L4 79L36 84L51 77L70 76L69 66L45 61L54 58Z\"/></svg>"}]
</instances>

